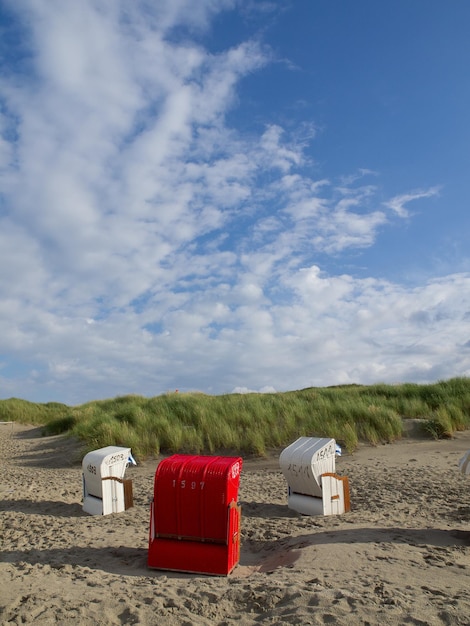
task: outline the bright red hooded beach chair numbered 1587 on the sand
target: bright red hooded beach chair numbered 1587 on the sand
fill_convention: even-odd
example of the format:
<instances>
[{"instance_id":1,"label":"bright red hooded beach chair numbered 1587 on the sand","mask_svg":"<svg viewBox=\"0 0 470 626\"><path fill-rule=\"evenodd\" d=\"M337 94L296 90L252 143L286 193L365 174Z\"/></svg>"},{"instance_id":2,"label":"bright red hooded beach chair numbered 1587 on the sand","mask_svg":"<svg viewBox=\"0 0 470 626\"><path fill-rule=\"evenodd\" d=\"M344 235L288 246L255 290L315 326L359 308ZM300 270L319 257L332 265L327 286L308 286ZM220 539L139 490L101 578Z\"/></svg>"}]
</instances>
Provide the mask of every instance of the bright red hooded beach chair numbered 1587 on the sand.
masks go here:
<instances>
[{"instance_id":1,"label":"bright red hooded beach chair numbered 1587 on the sand","mask_svg":"<svg viewBox=\"0 0 470 626\"><path fill-rule=\"evenodd\" d=\"M148 566L228 575L240 560L240 457L175 454L155 472Z\"/></svg>"}]
</instances>

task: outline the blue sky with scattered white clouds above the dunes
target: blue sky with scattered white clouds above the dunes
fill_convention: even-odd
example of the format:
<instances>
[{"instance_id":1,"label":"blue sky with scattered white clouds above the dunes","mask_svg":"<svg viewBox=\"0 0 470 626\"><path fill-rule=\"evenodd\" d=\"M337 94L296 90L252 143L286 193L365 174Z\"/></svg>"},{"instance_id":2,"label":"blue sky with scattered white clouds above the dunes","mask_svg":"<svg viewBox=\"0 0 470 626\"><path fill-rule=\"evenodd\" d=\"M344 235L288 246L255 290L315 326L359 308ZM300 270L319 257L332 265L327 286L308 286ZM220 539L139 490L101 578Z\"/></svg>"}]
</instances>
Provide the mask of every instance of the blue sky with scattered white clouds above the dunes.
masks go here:
<instances>
[{"instance_id":1,"label":"blue sky with scattered white clouds above the dunes","mask_svg":"<svg viewBox=\"0 0 470 626\"><path fill-rule=\"evenodd\" d=\"M0 398L470 376L470 3L0 0Z\"/></svg>"}]
</instances>

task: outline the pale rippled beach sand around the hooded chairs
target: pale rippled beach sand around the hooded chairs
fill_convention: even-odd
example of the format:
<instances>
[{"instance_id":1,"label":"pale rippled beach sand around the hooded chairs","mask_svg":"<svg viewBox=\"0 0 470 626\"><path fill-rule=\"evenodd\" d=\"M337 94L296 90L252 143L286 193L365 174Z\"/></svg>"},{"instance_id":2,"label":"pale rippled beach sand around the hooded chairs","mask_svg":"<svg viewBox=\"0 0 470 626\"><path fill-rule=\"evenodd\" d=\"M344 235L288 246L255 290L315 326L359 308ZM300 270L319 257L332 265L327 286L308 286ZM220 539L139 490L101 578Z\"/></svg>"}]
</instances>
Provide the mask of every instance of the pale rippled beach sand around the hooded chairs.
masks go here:
<instances>
[{"instance_id":1,"label":"pale rippled beach sand around the hooded chairs","mask_svg":"<svg viewBox=\"0 0 470 626\"><path fill-rule=\"evenodd\" d=\"M470 623L470 432L337 459L351 512L287 508L276 455L245 460L240 564L228 577L149 570L158 459L130 467L134 507L82 511L82 454L0 425L1 624ZM139 462L139 459L137 459Z\"/></svg>"}]
</instances>

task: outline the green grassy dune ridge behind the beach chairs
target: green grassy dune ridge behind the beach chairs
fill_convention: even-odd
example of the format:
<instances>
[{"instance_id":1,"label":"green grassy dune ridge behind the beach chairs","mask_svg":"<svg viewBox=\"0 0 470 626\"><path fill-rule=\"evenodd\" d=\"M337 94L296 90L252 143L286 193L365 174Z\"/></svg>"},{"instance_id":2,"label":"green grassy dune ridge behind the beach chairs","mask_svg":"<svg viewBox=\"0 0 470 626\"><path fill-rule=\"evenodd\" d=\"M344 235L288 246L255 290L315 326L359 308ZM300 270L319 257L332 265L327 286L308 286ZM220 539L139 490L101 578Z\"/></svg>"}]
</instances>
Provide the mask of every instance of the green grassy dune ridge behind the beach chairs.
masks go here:
<instances>
[{"instance_id":1,"label":"green grassy dune ridge behind the beach chairs","mask_svg":"<svg viewBox=\"0 0 470 626\"><path fill-rule=\"evenodd\" d=\"M470 428L470 378L429 385L344 385L273 394L169 393L121 396L76 407L0 401L0 421L69 433L87 450L131 447L140 456L171 452L264 455L299 436L333 437L347 450L358 442L391 442L403 418L418 418L436 438Z\"/></svg>"}]
</instances>

